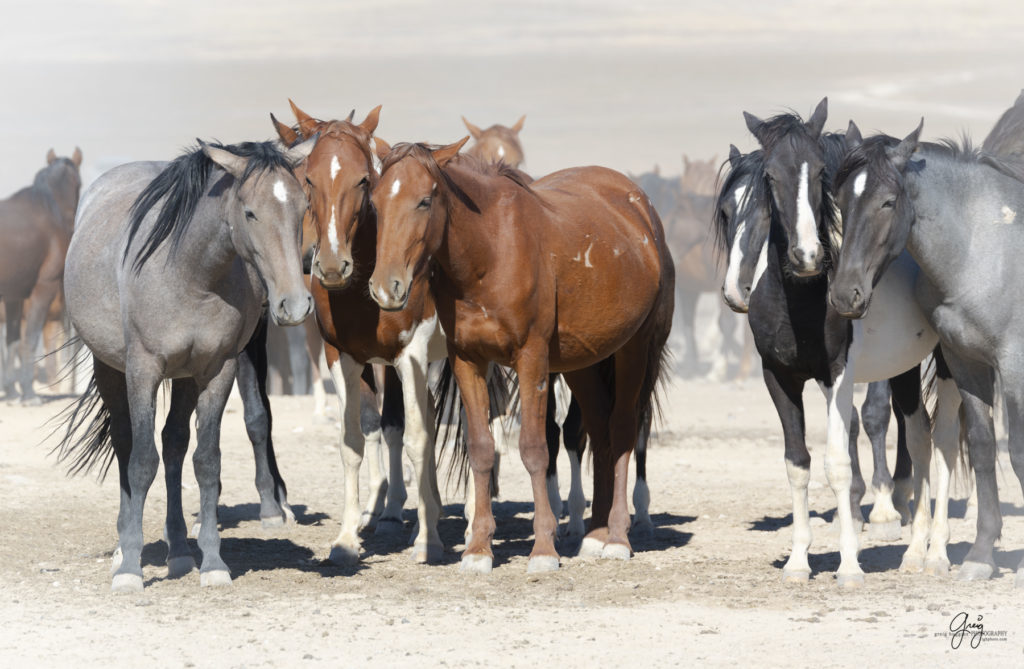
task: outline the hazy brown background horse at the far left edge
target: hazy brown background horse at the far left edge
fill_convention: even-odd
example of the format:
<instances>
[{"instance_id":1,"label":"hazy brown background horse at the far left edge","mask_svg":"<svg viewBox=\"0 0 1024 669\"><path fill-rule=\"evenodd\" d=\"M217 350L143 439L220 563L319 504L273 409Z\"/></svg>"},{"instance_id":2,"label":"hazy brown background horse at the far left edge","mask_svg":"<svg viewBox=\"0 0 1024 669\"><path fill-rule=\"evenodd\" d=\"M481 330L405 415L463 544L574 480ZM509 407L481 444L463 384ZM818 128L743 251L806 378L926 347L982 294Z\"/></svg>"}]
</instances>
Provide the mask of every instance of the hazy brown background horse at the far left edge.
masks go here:
<instances>
[{"instance_id":1,"label":"hazy brown background horse at the far left edge","mask_svg":"<svg viewBox=\"0 0 1024 669\"><path fill-rule=\"evenodd\" d=\"M8 376L3 385L8 396L16 395L16 353L20 359L23 404L39 404L32 387L33 354L50 305L60 292L82 186L78 173L81 164L82 152L78 148L71 158L57 158L51 149L46 154L46 167L36 174L33 184L0 201L0 299L6 309L4 368ZM28 312L24 310L26 301L30 303Z\"/></svg>"}]
</instances>

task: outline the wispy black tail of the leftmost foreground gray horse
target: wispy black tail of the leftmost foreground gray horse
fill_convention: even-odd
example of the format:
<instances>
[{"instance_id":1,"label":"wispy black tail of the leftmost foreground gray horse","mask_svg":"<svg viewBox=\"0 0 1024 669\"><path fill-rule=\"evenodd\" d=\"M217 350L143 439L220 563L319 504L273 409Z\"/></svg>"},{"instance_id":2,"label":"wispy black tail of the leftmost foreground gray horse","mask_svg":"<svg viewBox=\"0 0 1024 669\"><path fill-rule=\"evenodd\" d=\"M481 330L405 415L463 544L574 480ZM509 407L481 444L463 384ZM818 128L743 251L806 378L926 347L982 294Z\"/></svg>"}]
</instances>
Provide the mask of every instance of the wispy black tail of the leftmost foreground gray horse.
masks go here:
<instances>
[{"instance_id":1,"label":"wispy black tail of the leftmost foreground gray horse","mask_svg":"<svg viewBox=\"0 0 1024 669\"><path fill-rule=\"evenodd\" d=\"M53 432L62 428L65 435L50 450L50 455L56 453L57 462L68 462L68 475L88 473L96 467L99 480L105 478L114 462L111 412L99 396L95 374L82 396L52 420L56 423Z\"/></svg>"}]
</instances>

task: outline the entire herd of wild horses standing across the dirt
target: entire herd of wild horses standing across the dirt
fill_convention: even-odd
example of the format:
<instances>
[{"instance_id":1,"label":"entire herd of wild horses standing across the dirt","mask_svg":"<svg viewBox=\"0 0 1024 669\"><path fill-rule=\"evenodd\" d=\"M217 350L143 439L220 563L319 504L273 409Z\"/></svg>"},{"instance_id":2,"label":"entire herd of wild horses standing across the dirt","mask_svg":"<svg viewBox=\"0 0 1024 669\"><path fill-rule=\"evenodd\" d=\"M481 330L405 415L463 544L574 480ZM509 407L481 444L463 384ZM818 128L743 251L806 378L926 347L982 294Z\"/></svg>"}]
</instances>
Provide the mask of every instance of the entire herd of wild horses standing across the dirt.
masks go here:
<instances>
[{"instance_id":1,"label":"entire herd of wild horses standing across the dirt","mask_svg":"<svg viewBox=\"0 0 1024 669\"><path fill-rule=\"evenodd\" d=\"M57 451L73 471L105 471L117 461L114 590L142 588L142 511L161 460L156 400L165 380L170 576L196 569L180 492L195 413L200 581L230 583L217 499L220 421L236 383L261 519L294 518L271 441L271 321L307 324L313 368L323 346L340 400L345 499L332 561L357 561L359 532L369 526L400 527L403 451L419 495L413 558L440 557L435 437L446 437L442 425L455 422L455 460L469 472L461 568L488 573L494 433L512 410L534 493L528 571L558 569L560 532L580 540L581 554L629 558L630 533L651 531L646 442L669 369L670 331L674 321L685 331L683 369L694 371L696 295L719 287L733 310L746 313L743 330L782 424L794 508L783 579L810 576L802 394L812 379L827 405L824 464L837 496L839 584L863 581L860 422L874 456L869 531L894 540L901 524L911 525L901 569L948 572L949 485L966 458L978 527L957 577L993 574L1001 527L996 388L1024 485L1024 339L1017 336L1024 312L1005 289L1024 281L1014 262L1024 252L1024 93L981 148L923 142L921 126L902 139L864 137L852 121L845 132L826 132L825 99L806 121L744 113L760 148L732 148L711 175L688 164L683 180L631 179L602 167L534 178L519 169L523 119L485 130L463 119L474 139L463 151L468 136L447 145L388 145L375 136L380 108L360 123L354 114L323 121L292 110L294 125L271 115L278 140L200 141L169 163L117 167L80 200L81 152L57 158L51 151L31 187L0 202L5 389L15 392L16 383L26 401L36 400L34 352L63 305L75 342L91 353L92 377L66 412ZM721 323L723 341L738 348L729 319ZM730 354L746 361L740 368L750 364L749 350ZM870 385L858 417L853 385L860 382ZM571 398L561 424L556 383ZM509 384L511 403L503 396ZM890 401L899 431L895 478L885 458ZM559 528L554 462L563 438L573 482L570 518ZM586 527L585 445L594 470ZM365 456L372 471L364 505ZM1024 586L1024 565L1016 581Z\"/></svg>"}]
</instances>

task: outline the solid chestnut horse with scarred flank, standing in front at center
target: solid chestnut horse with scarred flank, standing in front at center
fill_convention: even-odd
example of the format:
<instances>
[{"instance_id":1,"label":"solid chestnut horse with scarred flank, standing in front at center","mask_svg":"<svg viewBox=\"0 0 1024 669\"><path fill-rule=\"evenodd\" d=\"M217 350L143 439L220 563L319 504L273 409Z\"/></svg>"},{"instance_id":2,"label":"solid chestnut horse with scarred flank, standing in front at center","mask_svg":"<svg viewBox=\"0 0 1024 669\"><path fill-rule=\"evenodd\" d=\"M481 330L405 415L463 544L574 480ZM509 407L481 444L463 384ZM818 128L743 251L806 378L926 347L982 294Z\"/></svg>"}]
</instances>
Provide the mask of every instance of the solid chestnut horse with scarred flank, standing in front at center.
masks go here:
<instances>
[{"instance_id":1,"label":"solid chestnut horse with scarred flank, standing in front at center","mask_svg":"<svg viewBox=\"0 0 1024 669\"><path fill-rule=\"evenodd\" d=\"M656 212L625 175L562 170L527 184L505 166L456 160L469 137L431 150L399 144L373 190L382 308L415 308L430 282L466 407L476 509L462 569L490 571L487 364L515 369L519 453L534 491L529 571L558 568L548 502L548 375L580 402L594 453L594 504L581 552L632 554L627 532L630 453L650 418L672 325L672 258Z\"/></svg>"}]
</instances>

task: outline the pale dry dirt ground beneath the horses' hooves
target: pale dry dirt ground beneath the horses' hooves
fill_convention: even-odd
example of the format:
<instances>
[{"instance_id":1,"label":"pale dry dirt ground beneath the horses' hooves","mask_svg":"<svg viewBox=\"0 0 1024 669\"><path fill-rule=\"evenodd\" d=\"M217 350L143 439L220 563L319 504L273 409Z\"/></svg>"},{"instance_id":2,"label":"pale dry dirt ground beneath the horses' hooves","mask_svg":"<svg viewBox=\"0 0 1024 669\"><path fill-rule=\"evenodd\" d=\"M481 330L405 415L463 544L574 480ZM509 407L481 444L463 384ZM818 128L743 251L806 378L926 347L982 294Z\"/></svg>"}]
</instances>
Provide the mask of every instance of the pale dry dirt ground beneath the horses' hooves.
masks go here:
<instances>
[{"instance_id":1,"label":"pale dry dirt ground beneath the horses' hooves","mask_svg":"<svg viewBox=\"0 0 1024 669\"><path fill-rule=\"evenodd\" d=\"M132 595L110 592L116 476L101 485L69 479L48 455L54 442L45 423L70 400L0 406L0 664L830 667L887 664L893 653L908 666L1020 663L1024 613L1013 577L1024 554L1024 504L1005 453L997 578L965 584L901 574L904 528L892 544L864 532L866 582L841 591L827 525L836 505L821 467L823 402L809 389L814 573L806 585L783 585L791 502L781 430L762 382L676 380L665 396L648 465L653 540L636 542L629 562L574 557L575 547L562 545L558 572L527 575L532 505L512 452L495 504L496 567L487 577L459 572L464 521L461 499L451 494L440 526L443 563L413 563L394 536L367 536L357 569L324 561L342 510L342 467L336 427L313 423L310 398L272 399L279 462L298 518L263 530L241 405L232 400L223 424L220 517L233 584L203 589L195 572L166 578L166 494L158 476L144 526L145 590ZM561 460L567 472L564 454ZM188 465L184 482L185 512L195 514L199 493ZM563 477L563 497L567 486ZM589 497L589 482L585 488ZM954 574L974 537L963 497L951 513ZM970 637L951 647L946 633L961 613L983 617L993 633L977 649Z\"/></svg>"}]
</instances>

